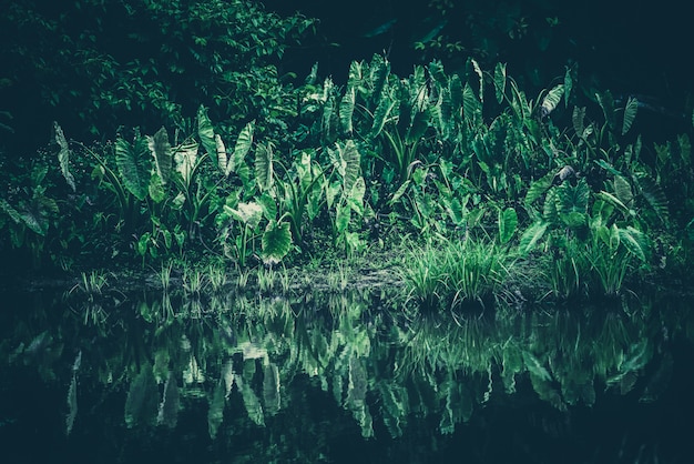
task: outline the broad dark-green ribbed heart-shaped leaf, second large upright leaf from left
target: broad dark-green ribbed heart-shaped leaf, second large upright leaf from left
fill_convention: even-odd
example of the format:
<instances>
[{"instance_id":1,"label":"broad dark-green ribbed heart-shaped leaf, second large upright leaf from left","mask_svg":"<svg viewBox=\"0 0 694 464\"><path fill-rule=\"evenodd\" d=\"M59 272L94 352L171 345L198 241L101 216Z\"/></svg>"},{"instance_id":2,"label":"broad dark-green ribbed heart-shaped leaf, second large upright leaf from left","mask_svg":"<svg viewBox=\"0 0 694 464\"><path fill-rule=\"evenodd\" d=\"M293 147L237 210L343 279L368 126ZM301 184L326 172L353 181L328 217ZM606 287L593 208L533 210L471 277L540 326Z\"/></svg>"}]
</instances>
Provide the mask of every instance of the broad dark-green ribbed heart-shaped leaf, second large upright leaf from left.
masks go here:
<instances>
[{"instance_id":1,"label":"broad dark-green ribbed heart-shaped leaf, second large upright leaf from left","mask_svg":"<svg viewBox=\"0 0 694 464\"><path fill-rule=\"evenodd\" d=\"M115 164L127 191L142 201L149 193L150 176L149 144L137 134L131 144L123 138L115 141Z\"/></svg>"}]
</instances>

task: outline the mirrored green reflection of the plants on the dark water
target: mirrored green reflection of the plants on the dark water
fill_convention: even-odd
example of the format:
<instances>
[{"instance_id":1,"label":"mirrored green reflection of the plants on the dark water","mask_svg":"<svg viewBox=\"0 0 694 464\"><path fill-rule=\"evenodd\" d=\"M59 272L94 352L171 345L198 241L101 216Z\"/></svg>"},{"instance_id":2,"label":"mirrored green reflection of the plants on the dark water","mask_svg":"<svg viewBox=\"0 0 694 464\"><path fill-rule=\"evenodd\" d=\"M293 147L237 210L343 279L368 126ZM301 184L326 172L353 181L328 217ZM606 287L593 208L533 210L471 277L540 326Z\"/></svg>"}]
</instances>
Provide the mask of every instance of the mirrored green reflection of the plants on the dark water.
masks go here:
<instances>
[{"instance_id":1,"label":"mirrored green reflection of the plants on the dark water","mask_svg":"<svg viewBox=\"0 0 694 464\"><path fill-rule=\"evenodd\" d=\"M674 343L691 343L694 326L685 309L647 302L451 319L394 311L368 292L145 292L125 302L104 292L96 319L83 315L94 299L76 296L62 316L37 307L18 317L0 345L12 370L62 392L68 436L108 414L100 433L157 441L181 431L242 461L318 460L340 434L399 441L421 421L427 440L445 440L484 431L489 412L510 402L539 402L543 421L569 422L621 396L657 404ZM313 402L334 411L330 430ZM256 435L274 445L256 437L236 448Z\"/></svg>"}]
</instances>

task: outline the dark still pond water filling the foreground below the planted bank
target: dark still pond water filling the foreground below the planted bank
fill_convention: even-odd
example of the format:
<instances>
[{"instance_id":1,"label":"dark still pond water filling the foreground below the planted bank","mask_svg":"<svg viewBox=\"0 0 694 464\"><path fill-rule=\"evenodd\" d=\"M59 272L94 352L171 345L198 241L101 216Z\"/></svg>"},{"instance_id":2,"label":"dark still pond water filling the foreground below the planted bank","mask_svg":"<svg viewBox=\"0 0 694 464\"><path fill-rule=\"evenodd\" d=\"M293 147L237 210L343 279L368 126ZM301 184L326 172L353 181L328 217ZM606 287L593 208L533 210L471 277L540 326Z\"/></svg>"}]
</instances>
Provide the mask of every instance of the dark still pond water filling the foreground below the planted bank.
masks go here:
<instances>
[{"instance_id":1,"label":"dark still pond water filling the foreground below the planted bank","mask_svg":"<svg viewBox=\"0 0 694 464\"><path fill-rule=\"evenodd\" d=\"M10 294L2 463L691 463L660 299L423 317L377 293Z\"/></svg>"}]
</instances>

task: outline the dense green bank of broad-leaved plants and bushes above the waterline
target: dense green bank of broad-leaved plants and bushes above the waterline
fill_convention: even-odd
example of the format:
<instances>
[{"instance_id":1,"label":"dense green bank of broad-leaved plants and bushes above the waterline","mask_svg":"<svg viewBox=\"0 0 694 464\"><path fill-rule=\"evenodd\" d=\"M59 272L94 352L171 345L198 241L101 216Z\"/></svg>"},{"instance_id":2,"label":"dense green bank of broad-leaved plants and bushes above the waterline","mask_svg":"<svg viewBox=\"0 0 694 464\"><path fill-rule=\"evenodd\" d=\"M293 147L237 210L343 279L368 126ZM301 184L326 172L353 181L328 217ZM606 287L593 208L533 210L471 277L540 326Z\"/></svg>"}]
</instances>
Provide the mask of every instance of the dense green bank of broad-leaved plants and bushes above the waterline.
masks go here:
<instances>
[{"instance_id":1,"label":"dense green bank of broad-leaved plants and bushes above the waterline","mask_svg":"<svg viewBox=\"0 0 694 464\"><path fill-rule=\"evenodd\" d=\"M469 252L451 248L458 242L493 244L491 253L541 269L549 293L563 299L588 289L619 294L634 275L691 262L690 135L645 143L632 129L639 99L579 87L575 67L527 94L503 63L483 69L469 58L447 73L433 60L404 78L376 54L354 61L345 85L315 67L289 85L273 59L312 27L299 16L241 0L71 8L113 21L70 32L73 16L32 17L55 62L38 69L33 49L9 49L18 63L10 83L37 74L59 121L72 108L113 140L72 141L84 128L68 118L53 124L52 148L3 158L4 253L25 251L37 266L202 255L272 266L326 248L355 255L405 235L452 256ZM28 33L31 24L17 19L41 10L9 11L17 33ZM116 36L130 46L112 48ZM68 73L82 93L51 85L51 73ZM193 105L186 121L182 109ZM125 118L141 129L116 131ZM468 278L489 280L490 268L446 268L433 279L428 268L446 261L405 276L428 289L414 291L420 301L480 300L509 271L499 261L491 286Z\"/></svg>"}]
</instances>

